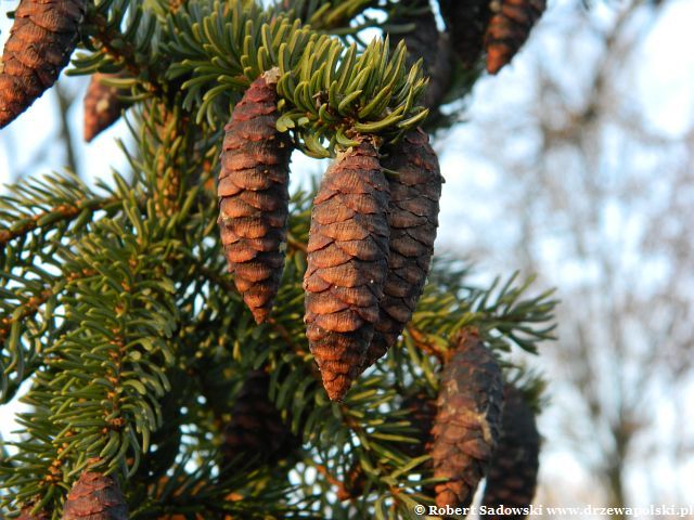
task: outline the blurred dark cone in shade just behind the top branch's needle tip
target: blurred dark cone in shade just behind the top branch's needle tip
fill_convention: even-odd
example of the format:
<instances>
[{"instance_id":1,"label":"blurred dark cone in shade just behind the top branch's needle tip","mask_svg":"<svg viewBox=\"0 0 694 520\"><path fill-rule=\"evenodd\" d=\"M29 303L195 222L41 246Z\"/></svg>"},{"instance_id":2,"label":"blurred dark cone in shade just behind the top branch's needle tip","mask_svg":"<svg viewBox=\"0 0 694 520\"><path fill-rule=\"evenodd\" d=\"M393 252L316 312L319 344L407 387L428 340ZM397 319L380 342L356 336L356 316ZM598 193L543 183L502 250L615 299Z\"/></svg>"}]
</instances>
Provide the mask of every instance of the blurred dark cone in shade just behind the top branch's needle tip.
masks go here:
<instances>
[{"instance_id":1,"label":"blurred dark cone in shade just behind the top branch's needle tip","mask_svg":"<svg viewBox=\"0 0 694 520\"><path fill-rule=\"evenodd\" d=\"M398 43L404 40L408 48L408 67L422 58L424 76L429 78L429 84L421 103L427 108L436 108L451 81L451 47L448 35L439 34L429 0L401 0L398 5L404 9L393 16L389 23L413 24L414 29L404 34L391 34L390 50L395 50Z\"/></svg>"}]
</instances>

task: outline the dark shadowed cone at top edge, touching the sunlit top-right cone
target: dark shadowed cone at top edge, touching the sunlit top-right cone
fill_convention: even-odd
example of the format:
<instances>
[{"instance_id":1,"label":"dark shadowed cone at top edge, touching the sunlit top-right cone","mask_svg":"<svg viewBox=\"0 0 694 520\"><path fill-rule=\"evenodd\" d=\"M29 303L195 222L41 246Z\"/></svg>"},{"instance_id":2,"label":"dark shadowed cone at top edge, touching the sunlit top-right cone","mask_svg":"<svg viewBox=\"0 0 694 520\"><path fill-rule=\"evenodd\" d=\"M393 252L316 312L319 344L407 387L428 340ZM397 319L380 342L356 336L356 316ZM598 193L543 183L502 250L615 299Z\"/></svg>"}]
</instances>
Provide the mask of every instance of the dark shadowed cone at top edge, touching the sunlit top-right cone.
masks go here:
<instances>
[{"instance_id":1,"label":"dark shadowed cone at top edge, touching the sunlit top-right cone","mask_svg":"<svg viewBox=\"0 0 694 520\"><path fill-rule=\"evenodd\" d=\"M473 67L484 49L489 0L439 0L439 6L453 52L465 68Z\"/></svg>"}]
</instances>

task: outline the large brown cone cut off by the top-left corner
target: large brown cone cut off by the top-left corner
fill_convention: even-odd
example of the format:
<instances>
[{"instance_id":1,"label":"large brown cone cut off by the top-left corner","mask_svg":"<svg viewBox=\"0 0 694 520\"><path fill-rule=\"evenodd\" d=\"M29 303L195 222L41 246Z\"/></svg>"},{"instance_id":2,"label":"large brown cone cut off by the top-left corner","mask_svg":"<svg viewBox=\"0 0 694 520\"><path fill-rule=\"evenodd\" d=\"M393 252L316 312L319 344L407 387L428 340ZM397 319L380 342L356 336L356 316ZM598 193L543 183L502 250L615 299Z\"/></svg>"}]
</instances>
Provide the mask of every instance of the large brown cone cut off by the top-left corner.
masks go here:
<instances>
[{"instance_id":1,"label":"large brown cone cut off by the top-left corner","mask_svg":"<svg viewBox=\"0 0 694 520\"><path fill-rule=\"evenodd\" d=\"M75 50L86 0L22 0L0 60L0 128L49 89Z\"/></svg>"}]
</instances>

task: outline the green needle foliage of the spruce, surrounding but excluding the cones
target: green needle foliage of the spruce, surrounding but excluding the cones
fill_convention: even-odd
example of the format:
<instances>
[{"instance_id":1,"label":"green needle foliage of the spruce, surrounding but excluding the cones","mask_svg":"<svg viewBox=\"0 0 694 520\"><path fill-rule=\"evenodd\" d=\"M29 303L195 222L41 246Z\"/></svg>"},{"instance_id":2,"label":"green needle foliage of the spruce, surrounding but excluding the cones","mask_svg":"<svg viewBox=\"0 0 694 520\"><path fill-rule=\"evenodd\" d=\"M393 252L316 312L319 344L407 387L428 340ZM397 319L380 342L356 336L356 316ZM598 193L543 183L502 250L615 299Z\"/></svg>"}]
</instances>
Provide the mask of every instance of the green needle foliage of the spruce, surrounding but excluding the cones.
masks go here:
<instances>
[{"instance_id":1,"label":"green needle foliage of the spruce, surrounding but excluding the cones","mask_svg":"<svg viewBox=\"0 0 694 520\"><path fill-rule=\"evenodd\" d=\"M262 73L278 75L277 129L311 157L363 135L397 143L425 121L422 63L407 66L402 42L363 41L365 28L415 29L391 23L397 6L88 3L68 73L110 75L136 148L123 150L128 172L94 188L63 172L0 196L0 399L26 384L29 405L0 461L3 514L63 518L92 472L117 480L131 519L415 518L414 505L434 504L430 457L403 403L437 394L462 329L522 372L512 351L552 339L551 291L529 296L517 275L473 286L460 262L435 259L397 343L331 402L303 322L316 190L292 195L284 274L260 325L224 273L217 229L223 125ZM258 399L298 440L272 464L224 450L256 370L269 375Z\"/></svg>"}]
</instances>

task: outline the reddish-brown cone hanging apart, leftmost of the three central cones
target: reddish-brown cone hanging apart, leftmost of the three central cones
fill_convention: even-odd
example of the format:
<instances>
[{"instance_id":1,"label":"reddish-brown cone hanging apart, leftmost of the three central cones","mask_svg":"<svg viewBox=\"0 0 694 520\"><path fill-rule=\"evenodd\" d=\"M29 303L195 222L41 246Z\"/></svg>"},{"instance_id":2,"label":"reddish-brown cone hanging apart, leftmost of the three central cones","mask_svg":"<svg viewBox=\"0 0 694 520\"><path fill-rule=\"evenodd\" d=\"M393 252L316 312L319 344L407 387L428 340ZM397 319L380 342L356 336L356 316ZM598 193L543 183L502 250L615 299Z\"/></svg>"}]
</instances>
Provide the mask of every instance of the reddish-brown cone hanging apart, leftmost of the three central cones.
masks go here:
<instances>
[{"instance_id":1,"label":"reddish-brown cone hanging apart, leftmost of the three central cones","mask_svg":"<svg viewBox=\"0 0 694 520\"><path fill-rule=\"evenodd\" d=\"M256 323L267 320L284 269L292 148L275 128L274 82L266 73L234 108L224 130L219 226L229 271Z\"/></svg>"}]
</instances>

